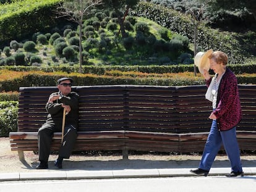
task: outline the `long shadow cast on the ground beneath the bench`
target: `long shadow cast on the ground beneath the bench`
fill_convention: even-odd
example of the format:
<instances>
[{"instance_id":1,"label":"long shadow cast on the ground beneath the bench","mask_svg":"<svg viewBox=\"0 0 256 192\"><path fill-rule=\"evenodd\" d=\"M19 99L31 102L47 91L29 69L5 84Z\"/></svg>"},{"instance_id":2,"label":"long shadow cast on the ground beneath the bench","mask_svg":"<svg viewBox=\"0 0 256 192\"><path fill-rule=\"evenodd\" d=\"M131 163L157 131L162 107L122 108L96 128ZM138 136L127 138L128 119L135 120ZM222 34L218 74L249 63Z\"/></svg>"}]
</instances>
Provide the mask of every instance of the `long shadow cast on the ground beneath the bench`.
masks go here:
<instances>
[{"instance_id":1,"label":"long shadow cast on the ground beneath the bench","mask_svg":"<svg viewBox=\"0 0 256 192\"><path fill-rule=\"evenodd\" d=\"M194 169L199 160L186 161L152 161L144 159L113 160L113 161L69 161L64 160L63 170L124 170L124 169ZM49 162L49 168L54 162ZM255 167L256 161L242 160L243 167ZM231 167L228 160L213 162L212 168Z\"/></svg>"}]
</instances>

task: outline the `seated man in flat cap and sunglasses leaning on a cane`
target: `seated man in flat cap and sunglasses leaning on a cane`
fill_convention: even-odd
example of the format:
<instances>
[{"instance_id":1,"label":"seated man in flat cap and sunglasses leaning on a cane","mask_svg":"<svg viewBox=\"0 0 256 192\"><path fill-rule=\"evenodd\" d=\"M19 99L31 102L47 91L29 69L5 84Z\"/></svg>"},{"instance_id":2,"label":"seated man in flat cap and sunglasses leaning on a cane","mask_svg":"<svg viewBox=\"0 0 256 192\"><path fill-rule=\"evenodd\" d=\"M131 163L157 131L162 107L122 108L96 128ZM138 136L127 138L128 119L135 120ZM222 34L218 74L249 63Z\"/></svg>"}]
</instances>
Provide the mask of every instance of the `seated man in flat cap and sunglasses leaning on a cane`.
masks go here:
<instances>
[{"instance_id":1,"label":"seated man in flat cap and sunglasses leaning on a cane","mask_svg":"<svg viewBox=\"0 0 256 192\"><path fill-rule=\"evenodd\" d=\"M63 159L69 159L74 148L79 119L79 94L71 92L72 83L72 78L60 78L57 81L59 91L52 93L46 103L48 116L46 122L38 130L38 160L40 164L36 169L48 169L48 158L54 132L63 131L64 133L59 148L59 157L54 162L58 169L62 169Z\"/></svg>"}]
</instances>

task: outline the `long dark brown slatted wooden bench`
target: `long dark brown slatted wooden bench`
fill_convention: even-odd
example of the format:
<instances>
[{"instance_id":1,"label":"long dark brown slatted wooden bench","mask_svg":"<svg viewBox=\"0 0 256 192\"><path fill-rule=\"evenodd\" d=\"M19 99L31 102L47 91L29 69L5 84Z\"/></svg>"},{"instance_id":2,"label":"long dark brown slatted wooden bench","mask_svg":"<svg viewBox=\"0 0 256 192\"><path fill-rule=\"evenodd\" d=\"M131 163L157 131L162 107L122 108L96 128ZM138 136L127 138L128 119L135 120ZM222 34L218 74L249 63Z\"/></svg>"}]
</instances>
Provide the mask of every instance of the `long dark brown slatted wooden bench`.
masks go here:
<instances>
[{"instance_id":1,"label":"long dark brown slatted wooden bench","mask_svg":"<svg viewBox=\"0 0 256 192\"><path fill-rule=\"evenodd\" d=\"M74 151L200 152L211 120L206 86L74 86L79 93L79 128ZM242 150L256 148L256 86L239 85L244 118L237 126ZM37 131L46 120L45 104L56 87L22 87L17 132L11 150L38 151ZM61 133L53 137L59 149Z\"/></svg>"}]
</instances>

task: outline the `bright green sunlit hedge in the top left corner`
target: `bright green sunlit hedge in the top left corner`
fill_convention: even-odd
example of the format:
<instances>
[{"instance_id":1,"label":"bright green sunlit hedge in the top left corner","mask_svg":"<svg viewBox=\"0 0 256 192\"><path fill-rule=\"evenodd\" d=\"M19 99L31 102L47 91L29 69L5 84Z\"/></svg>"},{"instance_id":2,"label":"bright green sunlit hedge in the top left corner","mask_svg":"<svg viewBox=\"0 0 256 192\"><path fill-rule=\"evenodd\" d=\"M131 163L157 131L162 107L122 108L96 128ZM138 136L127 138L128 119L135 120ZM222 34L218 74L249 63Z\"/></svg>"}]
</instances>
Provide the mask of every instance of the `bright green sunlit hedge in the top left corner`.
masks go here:
<instances>
[{"instance_id":1,"label":"bright green sunlit hedge in the top left corner","mask_svg":"<svg viewBox=\"0 0 256 192\"><path fill-rule=\"evenodd\" d=\"M19 38L56 24L54 10L61 0L25 0L0 6L0 41ZM53 16L51 16L53 15Z\"/></svg>"}]
</instances>

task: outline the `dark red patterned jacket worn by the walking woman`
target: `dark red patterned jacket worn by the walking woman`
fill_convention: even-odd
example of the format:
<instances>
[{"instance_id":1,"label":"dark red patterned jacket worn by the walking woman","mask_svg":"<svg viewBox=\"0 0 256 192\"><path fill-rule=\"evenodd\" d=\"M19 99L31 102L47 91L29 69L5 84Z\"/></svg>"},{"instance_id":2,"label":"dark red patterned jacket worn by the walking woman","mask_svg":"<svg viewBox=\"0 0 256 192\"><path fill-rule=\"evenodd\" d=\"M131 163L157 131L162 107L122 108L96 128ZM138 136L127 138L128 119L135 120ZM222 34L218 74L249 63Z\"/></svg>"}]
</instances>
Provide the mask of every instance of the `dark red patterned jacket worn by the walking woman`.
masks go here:
<instances>
[{"instance_id":1,"label":"dark red patterned jacket worn by the walking woman","mask_svg":"<svg viewBox=\"0 0 256 192\"><path fill-rule=\"evenodd\" d=\"M210 83L211 78L206 81L207 87ZM236 127L242 119L237 78L228 68L220 81L217 107L213 114L217 117L218 130L220 131L226 131Z\"/></svg>"}]
</instances>

